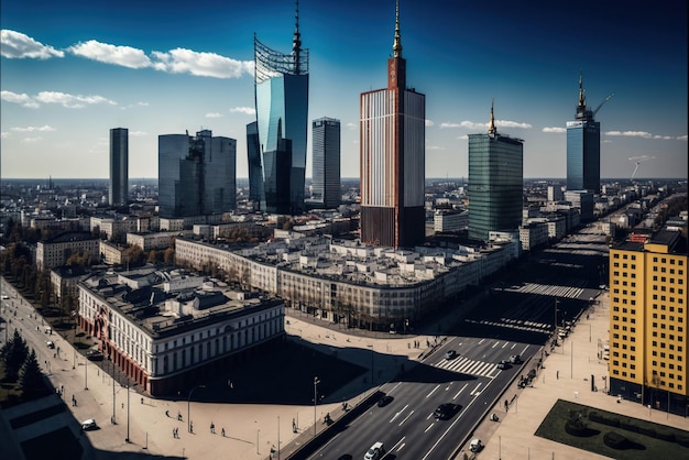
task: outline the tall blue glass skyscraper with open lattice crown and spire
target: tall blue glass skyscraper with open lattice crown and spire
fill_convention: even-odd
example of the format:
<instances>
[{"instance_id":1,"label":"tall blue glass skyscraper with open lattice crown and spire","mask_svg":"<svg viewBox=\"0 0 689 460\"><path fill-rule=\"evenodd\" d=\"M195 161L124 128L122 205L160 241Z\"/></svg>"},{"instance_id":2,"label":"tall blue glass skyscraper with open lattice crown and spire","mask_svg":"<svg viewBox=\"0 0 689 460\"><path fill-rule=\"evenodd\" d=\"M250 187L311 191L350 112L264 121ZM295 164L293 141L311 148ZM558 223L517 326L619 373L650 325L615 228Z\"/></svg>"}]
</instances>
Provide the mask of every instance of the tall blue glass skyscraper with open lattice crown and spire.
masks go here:
<instances>
[{"instance_id":1,"label":"tall blue glass skyscraper with open lattice crown and spire","mask_svg":"<svg viewBox=\"0 0 689 460\"><path fill-rule=\"evenodd\" d=\"M256 127L264 190L261 208L274 213L296 215L304 210L308 50L302 50L298 2L295 21L289 54L269 48L255 36L253 40ZM283 191L287 193L286 197Z\"/></svg>"}]
</instances>

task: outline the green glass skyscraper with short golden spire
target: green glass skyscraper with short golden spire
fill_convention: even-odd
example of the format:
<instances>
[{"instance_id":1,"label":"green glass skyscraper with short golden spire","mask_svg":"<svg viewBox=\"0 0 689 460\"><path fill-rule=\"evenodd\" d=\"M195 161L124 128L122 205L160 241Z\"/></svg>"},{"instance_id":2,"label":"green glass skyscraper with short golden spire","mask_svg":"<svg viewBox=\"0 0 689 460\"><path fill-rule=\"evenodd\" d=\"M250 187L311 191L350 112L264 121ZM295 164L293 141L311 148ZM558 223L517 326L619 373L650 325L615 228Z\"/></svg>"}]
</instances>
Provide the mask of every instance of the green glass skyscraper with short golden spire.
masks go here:
<instances>
[{"instance_id":1,"label":"green glass skyscraper with short golden spire","mask_svg":"<svg viewBox=\"0 0 689 460\"><path fill-rule=\"evenodd\" d=\"M469 238L488 241L522 222L523 142L497 133L492 106L488 134L469 134Z\"/></svg>"}]
</instances>

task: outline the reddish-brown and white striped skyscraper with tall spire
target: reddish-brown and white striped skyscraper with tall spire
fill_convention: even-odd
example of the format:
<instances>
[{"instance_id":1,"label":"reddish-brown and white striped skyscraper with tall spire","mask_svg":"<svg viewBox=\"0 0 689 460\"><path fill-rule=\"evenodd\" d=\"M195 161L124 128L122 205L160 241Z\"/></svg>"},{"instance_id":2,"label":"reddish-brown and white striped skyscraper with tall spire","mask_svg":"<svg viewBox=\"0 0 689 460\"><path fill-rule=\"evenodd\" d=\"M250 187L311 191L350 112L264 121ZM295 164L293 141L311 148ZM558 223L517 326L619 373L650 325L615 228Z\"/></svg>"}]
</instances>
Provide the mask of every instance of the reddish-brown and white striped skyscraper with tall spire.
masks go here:
<instances>
[{"instance_id":1,"label":"reddish-brown and white striped skyscraper with tall spire","mask_svg":"<svg viewBox=\"0 0 689 460\"><path fill-rule=\"evenodd\" d=\"M426 97L406 88L395 11L387 88L361 95L361 241L412 248L425 237Z\"/></svg>"}]
</instances>

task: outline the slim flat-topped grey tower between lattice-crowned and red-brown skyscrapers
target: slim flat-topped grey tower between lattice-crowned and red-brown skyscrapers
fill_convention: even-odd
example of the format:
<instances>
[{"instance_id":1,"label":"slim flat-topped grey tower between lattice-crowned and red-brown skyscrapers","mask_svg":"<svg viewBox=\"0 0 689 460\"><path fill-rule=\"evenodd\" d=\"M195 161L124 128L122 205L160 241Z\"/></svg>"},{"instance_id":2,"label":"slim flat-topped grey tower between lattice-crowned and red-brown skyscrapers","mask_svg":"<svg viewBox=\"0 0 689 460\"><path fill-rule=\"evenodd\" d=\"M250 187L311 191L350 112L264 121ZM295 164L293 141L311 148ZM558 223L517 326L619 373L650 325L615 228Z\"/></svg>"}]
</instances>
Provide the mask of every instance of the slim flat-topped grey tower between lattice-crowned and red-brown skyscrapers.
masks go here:
<instances>
[{"instance_id":1,"label":"slim flat-topped grey tower between lattice-crowned and red-brown skyscrapers","mask_svg":"<svg viewBox=\"0 0 689 460\"><path fill-rule=\"evenodd\" d=\"M340 188L340 120L319 118L311 124L314 156L311 198L324 208L336 208L342 200Z\"/></svg>"}]
</instances>

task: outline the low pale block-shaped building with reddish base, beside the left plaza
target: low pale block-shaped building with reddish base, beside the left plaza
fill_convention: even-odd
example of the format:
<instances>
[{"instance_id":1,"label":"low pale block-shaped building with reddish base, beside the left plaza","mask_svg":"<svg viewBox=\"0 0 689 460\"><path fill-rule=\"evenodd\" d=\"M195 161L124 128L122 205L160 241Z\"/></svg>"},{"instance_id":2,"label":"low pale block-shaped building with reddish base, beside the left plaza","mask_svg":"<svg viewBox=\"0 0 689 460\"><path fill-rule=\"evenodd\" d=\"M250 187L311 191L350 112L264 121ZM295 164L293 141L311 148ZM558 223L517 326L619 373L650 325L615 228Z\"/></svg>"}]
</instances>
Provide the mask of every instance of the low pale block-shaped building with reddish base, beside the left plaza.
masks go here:
<instances>
[{"instance_id":1,"label":"low pale block-shaped building with reddish base, beside the left plaza","mask_svg":"<svg viewBox=\"0 0 689 460\"><path fill-rule=\"evenodd\" d=\"M79 327L151 396L228 375L234 363L282 343L284 303L203 278L160 273L94 275L78 284ZM253 357L253 358L252 358Z\"/></svg>"}]
</instances>

